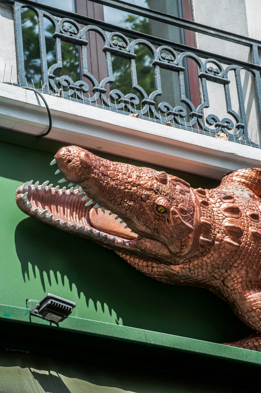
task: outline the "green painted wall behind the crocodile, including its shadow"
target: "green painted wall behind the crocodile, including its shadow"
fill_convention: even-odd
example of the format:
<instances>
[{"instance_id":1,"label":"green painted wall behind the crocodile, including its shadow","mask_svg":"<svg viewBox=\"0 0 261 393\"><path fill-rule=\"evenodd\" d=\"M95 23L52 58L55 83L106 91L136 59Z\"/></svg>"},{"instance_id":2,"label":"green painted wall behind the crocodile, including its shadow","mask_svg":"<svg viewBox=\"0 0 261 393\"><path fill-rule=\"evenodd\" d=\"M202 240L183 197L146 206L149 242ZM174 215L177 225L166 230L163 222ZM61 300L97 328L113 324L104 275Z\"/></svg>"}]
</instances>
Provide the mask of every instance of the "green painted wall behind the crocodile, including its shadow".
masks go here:
<instances>
[{"instance_id":1,"label":"green painted wall behind the crocodile, including its shadow","mask_svg":"<svg viewBox=\"0 0 261 393\"><path fill-rule=\"evenodd\" d=\"M79 318L212 342L235 341L251 333L207 290L154 281L114 252L22 213L15 203L16 188L31 179L57 185L49 164L61 145L7 130L0 138L0 303L26 307L26 299L39 300L52 292L75 301L72 315ZM194 187L217 185L167 171Z\"/></svg>"}]
</instances>

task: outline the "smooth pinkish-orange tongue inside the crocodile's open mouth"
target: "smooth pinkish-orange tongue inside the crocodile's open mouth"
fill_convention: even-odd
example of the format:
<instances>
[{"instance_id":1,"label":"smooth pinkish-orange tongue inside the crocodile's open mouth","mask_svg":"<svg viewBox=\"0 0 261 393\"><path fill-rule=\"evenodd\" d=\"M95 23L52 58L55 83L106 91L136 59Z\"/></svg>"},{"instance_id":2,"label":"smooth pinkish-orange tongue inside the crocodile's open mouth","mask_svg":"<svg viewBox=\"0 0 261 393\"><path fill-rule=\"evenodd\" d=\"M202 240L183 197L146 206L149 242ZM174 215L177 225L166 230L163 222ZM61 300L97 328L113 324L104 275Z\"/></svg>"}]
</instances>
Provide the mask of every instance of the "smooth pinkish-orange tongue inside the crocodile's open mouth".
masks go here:
<instances>
[{"instance_id":1,"label":"smooth pinkish-orange tongue inside the crocodile's open mouth","mask_svg":"<svg viewBox=\"0 0 261 393\"><path fill-rule=\"evenodd\" d=\"M120 224L120 219L115 220L115 217L115 214L109 216L109 211L101 211L101 208L92 208L89 211L90 224L97 230L123 237L124 239L136 239L138 237L136 233L130 233L130 228L124 228L126 224L124 222Z\"/></svg>"}]
</instances>

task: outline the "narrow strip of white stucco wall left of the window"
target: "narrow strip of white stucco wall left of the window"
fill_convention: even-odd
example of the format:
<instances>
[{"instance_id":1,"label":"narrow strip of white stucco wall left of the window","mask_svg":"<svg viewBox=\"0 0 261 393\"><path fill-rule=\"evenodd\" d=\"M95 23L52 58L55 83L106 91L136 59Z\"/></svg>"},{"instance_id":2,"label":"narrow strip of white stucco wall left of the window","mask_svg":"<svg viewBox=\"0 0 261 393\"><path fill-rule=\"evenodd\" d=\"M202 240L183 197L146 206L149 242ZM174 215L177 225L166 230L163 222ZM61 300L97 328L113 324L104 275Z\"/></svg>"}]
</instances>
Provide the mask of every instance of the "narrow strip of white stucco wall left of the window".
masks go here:
<instances>
[{"instance_id":1,"label":"narrow strip of white stucco wall left of the window","mask_svg":"<svg viewBox=\"0 0 261 393\"><path fill-rule=\"evenodd\" d=\"M17 81L13 7L0 3L0 80ZM12 73L12 74L11 74Z\"/></svg>"}]
</instances>

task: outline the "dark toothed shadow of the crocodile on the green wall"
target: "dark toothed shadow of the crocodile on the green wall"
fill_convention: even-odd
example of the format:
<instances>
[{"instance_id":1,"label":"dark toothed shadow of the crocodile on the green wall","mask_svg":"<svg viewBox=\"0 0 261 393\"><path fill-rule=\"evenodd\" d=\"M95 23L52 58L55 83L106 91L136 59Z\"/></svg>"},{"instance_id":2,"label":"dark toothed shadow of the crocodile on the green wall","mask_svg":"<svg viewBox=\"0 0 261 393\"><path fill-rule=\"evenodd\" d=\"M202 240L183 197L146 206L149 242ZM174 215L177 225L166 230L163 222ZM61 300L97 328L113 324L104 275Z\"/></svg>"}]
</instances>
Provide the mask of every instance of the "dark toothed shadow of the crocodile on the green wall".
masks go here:
<instances>
[{"instance_id":1,"label":"dark toothed shadow of the crocodile on the green wall","mask_svg":"<svg viewBox=\"0 0 261 393\"><path fill-rule=\"evenodd\" d=\"M229 342L252 333L221 299L202 288L173 286L152 280L136 271L111 250L28 217L15 230L15 246L24 281L40 282L70 290L86 298L81 318L89 318L92 300L97 310L108 306L116 312L115 323L213 342ZM29 264L33 276L29 276ZM51 271L55 277L51 282ZM61 278L60 278L61 276ZM39 284L38 284L39 285ZM77 297L76 297L77 301ZM85 304L85 303L84 303ZM84 315L84 316L83 316ZM236 333L235 333L236 332Z\"/></svg>"}]
</instances>

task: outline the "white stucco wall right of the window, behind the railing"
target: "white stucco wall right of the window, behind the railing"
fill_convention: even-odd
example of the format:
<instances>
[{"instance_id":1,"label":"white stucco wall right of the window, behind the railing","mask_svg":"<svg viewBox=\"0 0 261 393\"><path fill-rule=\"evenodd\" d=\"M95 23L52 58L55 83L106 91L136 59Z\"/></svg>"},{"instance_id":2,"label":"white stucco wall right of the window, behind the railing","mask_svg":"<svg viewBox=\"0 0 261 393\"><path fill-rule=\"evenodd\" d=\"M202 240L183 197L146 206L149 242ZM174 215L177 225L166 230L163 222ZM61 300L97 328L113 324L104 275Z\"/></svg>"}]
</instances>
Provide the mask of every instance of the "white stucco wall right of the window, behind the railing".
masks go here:
<instances>
[{"instance_id":1,"label":"white stucco wall right of the window, behind the railing","mask_svg":"<svg viewBox=\"0 0 261 393\"><path fill-rule=\"evenodd\" d=\"M215 28L244 35L261 41L261 1L260 0L192 0L195 22ZM203 34L196 34L197 46L200 49L217 53L232 59L251 62L250 50L246 46L216 39ZM235 76L233 71L230 79L230 94L232 108L239 113ZM254 79L249 72L241 71L243 94L245 101L248 132L253 142L259 142L260 127L257 121L257 101L254 92ZM216 114L220 119L226 117L233 120L226 112L224 88L221 84L207 82L210 107L205 110L205 116Z\"/></svg>"}]
</instances>

